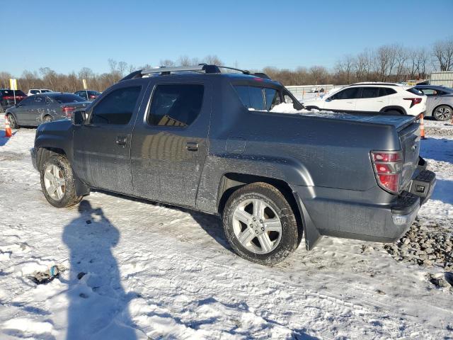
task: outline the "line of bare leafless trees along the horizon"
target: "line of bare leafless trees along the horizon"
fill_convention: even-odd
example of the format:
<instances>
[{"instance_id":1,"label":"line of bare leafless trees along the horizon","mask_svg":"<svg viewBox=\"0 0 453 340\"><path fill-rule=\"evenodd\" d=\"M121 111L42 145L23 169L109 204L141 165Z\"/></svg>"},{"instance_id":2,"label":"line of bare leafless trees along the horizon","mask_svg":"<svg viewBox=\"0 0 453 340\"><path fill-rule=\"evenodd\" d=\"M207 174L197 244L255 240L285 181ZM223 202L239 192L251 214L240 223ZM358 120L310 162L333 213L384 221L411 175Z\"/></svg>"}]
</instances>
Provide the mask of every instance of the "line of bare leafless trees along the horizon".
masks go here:
<instances>
[{"instance_id":1,"label":"line of bare leafless trees along the horizon","mask_svg":"<svg viewBox=\"0 0 453 340\"><path fill-rule=\"evenodd\" d=\"M181 56L178 60L161 60L160 66L189 66L205 62L224 65L216 55L204 58ZM233 67L239 67L237 62ZM41 67L38 71L25 70L18 77L18 86L23 91L28 89L52 89L54 91L74 92L83 89L82 79L86 79L88 88L104 91L126 74L137 69L151 68L145 64L135 67L127 62L108 60L108 72L96 74L88 67L69 74L57 73L50 67ZM265 72L272 79L284 85L315 84L351 84L358 81L408 81L426 79L432 71L453 71L453 37L435 42L430 49L408 48L402 45L383 45L375 50L364 50L357 55L345 55L332 69L323 66L297 67L297 69L279 69L265 67L253 72ZM0 72L0 88L8 89L9 79L13 75Z\"/></svg>"}]
</instances>

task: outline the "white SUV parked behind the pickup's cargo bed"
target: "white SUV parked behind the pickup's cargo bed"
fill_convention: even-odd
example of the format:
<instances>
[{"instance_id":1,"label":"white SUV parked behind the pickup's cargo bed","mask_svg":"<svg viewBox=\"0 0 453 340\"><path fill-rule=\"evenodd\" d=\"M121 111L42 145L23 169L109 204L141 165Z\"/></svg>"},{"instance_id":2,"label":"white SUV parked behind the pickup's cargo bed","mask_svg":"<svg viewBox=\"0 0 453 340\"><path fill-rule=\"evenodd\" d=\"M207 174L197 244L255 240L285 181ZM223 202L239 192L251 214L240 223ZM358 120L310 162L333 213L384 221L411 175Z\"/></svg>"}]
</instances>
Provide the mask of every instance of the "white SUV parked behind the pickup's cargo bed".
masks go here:
<instances>
[{"instance_id":1,"label":"white SUV parked behind the pickup's cargo bed","mask_svg":"<svg viewBox=\"0 0 453 340\"><path fill-rule=\"evenodd\" d=\"M419 115L426 111L426 96L410 86L391 83L357 83L323 98L305 101L307 109L339 112L385 112Z\"/></svg>"}]
</instances>

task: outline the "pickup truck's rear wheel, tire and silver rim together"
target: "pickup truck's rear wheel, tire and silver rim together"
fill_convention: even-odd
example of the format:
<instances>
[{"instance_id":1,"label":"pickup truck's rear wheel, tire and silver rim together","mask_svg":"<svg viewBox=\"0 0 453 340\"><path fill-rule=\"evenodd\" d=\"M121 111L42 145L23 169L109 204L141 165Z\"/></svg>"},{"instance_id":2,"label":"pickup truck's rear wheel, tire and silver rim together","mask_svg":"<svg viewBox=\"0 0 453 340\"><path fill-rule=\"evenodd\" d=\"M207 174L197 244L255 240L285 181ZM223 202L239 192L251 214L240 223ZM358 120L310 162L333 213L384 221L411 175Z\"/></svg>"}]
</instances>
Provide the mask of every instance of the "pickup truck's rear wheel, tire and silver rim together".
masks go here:
<instances>
[{"instance_id":1,"label":"pickup truck's rear wheel, tire and silver rim together","mask_svg":"<svg viewBox=\"0 0 453 340\"><path fill-rule=\"evenodd\" d=\"M251 183L231 194L223 224L226 239L239 256L273 265L299 245L296 217L285 199L268 183Z\"/></svg>"}]
</instances>

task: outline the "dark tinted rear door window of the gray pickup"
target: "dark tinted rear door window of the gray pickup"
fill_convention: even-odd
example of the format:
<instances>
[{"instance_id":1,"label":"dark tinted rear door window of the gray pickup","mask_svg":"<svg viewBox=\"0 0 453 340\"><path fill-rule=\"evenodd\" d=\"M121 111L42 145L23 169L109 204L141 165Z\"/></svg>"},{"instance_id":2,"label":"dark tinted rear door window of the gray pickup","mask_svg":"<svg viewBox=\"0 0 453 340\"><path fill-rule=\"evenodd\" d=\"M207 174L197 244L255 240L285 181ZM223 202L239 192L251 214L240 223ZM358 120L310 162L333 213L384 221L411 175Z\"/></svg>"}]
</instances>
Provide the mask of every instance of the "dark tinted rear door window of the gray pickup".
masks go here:
<instances>
[{"instance_id":1,"label":"dark tinted rear door window of the gray pickup","mask_svg":"<svg viewBox=\"0 0 453 340\"><path fill-rule=\"evenodd\" d=\"M188 126L200 115L205 86L200 84L158 85L149 108L148 123Z\"/></svg>"}]
</instances>

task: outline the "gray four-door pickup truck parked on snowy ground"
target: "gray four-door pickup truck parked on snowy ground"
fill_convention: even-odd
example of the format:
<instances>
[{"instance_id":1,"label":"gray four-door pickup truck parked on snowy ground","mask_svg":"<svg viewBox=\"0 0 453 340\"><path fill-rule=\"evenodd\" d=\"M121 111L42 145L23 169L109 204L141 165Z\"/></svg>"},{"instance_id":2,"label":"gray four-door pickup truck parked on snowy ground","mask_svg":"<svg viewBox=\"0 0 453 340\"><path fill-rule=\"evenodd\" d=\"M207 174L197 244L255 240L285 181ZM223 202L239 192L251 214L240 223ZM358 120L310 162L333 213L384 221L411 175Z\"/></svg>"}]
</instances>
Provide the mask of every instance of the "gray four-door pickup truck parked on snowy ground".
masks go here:
<instances>
[{"instance_id":1,"label":"gray four-door pickup truck parked on snowy ground","mask_svg":"<svg viewBox=\"0 0 453 340\"><path fill-rule=\"evenodd\" d=\"M222 217L231 247L273 264L321 235L394 242L435 186L411 116L271 112L301 104L263 74L133 72L31 150L58 208L101 189ZM120 207L119 207L120 209Z\"/></svg>"}]
</instances>

